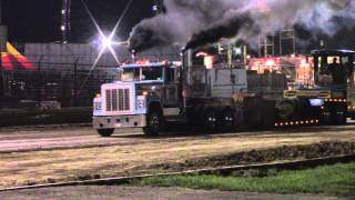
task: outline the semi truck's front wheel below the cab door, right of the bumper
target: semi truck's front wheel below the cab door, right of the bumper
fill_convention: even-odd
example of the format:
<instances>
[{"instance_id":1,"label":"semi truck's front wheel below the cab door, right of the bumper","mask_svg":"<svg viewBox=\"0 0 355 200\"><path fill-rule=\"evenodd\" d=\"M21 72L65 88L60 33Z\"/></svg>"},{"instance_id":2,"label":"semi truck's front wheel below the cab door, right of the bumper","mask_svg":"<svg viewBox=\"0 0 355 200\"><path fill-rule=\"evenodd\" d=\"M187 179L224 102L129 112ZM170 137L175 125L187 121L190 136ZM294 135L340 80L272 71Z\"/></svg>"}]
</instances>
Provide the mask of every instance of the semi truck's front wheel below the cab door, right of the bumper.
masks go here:
<instances>
[{"instance_id":1,"label":"semi truck's front wheel below the cab door, right of the bumper","mask_svg":"<svg viewBox=\"0 0 355 200\"><path fill-rule=\"evenodd\" d=\"M158 111L152 111L146 114L146 127L143 128L143 132L146 136L156 136L161 131L162 124L162 114Z\"/></svg>"}]
</instances>

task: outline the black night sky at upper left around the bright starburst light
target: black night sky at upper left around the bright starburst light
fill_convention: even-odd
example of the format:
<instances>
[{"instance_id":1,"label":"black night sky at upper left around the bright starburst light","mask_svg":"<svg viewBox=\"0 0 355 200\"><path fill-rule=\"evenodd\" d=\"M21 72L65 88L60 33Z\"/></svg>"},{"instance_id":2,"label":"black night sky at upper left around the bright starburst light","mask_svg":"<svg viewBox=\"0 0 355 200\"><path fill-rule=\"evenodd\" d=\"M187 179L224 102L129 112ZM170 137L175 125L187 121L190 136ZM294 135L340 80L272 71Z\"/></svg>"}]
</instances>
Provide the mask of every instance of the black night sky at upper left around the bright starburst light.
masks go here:
<instances>
[{"instance_id":1,"label":"black night sky at upper left around the bright starburst light","mask_svg":"<svg viewBox=\"0 0 355 200\"><path fill-rule=\"evenodd\" d=\"M61 0L1 0L9 40L55 42L61 40ZM128 0L85 0L103 30L114 27ZM153 16L154 0L133 0L118 34L126 39L132 27ZM80 0L72 0L70 42L89 42L97 31Z\"/></svg>"}]
</instances>

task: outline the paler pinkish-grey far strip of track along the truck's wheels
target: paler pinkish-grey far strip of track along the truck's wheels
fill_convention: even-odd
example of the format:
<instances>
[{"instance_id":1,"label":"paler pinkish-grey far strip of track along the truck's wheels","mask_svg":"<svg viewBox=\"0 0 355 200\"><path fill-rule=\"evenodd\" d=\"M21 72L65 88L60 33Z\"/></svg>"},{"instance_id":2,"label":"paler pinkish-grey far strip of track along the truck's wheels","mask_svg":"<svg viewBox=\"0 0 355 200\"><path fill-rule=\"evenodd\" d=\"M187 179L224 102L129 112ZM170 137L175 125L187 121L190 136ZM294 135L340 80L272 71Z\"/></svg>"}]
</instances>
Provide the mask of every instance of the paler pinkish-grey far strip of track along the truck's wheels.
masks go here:
<instances>
[{"instance_id":1,"label":"paler pinkish-grey far strip of track along the truck's wheels","mask_svg":"<svg viewBox=\"0 0 355 200\"><path fill-rule=\"evenodd\" d=\"M110 147L110 146L126 146L139 144L156 141L183 141L195 140L203 138L239 138L244 137L263 137L274 136L275 139L280 137L297 138L313 136L315 132L326 133L324 137L331 137L336 140L341 137L341 132L349 133L355 131L355 126L347 127L305 127L285 130L272 131L253 131L253 132L237 132L224 134L196 134L196 133L166 133L160 138L144 137L141 129L124 129L115 131L111 138L99 137L90 127L30 127L26 129L0 129L0 153L9 152L26 152L38 150L59 150L59 149L75 149L75 148L93 148L93 147ZM275 134L276 133L276 134ZM333 134L335 133L335 134ZM268 137L268 138L270 138ZM326 140L327 141L327 140Z\"/></svg>"}]
</instances>

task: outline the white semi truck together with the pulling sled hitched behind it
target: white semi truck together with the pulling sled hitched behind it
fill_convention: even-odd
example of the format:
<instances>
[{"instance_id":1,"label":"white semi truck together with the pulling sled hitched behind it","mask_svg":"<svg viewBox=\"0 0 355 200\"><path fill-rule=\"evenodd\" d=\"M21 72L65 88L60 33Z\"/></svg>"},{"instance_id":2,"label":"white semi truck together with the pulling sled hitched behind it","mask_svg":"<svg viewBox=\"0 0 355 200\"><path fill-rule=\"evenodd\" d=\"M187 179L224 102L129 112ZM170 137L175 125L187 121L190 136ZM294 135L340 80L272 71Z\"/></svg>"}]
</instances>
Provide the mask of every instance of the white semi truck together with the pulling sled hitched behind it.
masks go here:
<instances>
[{"instance_id":1,"label":"white semi truck together with the pulling sled hitched behind it","mask_svg":"<svg viewBox=\"0 0 355 200\"><path fill-rule=\"evenodd\" d=\"M321 50L313 56L315 71L324 73L328 60L338 58L345 81L321 84L315 77L315 86L288 90L281 73L257 74L213 62L206 68L196 51L185 52L182 62L123 64L119 80L103 84L94 98L93 127L110 137L120 128L143 128L155 136L170 121L207 132L239 126L343 124L354 118L354 52Z\"/></svg>"}]
</instances>

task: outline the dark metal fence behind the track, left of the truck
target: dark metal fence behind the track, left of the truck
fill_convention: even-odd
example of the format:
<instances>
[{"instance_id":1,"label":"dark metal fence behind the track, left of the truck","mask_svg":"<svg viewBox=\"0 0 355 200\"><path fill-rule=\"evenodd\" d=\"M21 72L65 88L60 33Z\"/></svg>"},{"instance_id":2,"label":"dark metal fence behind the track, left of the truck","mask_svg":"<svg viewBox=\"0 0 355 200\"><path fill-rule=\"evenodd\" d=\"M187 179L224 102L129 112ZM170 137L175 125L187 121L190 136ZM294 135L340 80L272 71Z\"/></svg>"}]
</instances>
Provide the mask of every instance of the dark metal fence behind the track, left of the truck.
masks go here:
<instances>
[{"instance_id":1,"label":"dark metal fence behind the track, left of the truck","mask_svg":"<svg viewBox=\"0 0 355 200\"><path fill-rule=\"evenodd\" d=\"M97 66L80 62L31 62L32 69L11 62L13 68L1 70L2 108L39 106L43 102L68 107L91 107L102 83L116 79L115 66ZM1 66L7 63L2 62Z\"/></svg>"}]
</instances>

